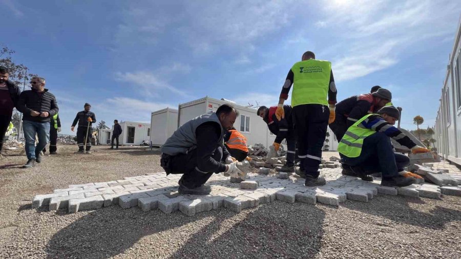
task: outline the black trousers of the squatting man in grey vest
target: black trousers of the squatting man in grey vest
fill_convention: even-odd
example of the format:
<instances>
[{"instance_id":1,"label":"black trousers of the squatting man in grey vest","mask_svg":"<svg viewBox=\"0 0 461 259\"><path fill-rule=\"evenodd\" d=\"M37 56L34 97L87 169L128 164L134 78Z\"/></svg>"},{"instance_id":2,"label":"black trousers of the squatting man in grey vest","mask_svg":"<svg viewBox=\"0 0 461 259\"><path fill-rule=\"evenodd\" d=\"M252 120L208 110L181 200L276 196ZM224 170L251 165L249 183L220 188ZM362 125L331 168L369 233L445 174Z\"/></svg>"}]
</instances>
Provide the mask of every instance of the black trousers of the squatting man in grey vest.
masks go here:
<instances>
[{"instance_id":1,"label":"black trousers of the squatting man in grey vest","mask_svg":"<svg viewBox=\"0 0 461 259\"><path fill-rule=\"evenodd\" d=\"M213 159L222 160L222 148L217 146ZM197 188L202 186L213 175L213 172L203 173L197 168L197 148L187 154L179 154L170 157L171 174L183 174L181 183L187 188Z\"/></svg>"}]
</instances>

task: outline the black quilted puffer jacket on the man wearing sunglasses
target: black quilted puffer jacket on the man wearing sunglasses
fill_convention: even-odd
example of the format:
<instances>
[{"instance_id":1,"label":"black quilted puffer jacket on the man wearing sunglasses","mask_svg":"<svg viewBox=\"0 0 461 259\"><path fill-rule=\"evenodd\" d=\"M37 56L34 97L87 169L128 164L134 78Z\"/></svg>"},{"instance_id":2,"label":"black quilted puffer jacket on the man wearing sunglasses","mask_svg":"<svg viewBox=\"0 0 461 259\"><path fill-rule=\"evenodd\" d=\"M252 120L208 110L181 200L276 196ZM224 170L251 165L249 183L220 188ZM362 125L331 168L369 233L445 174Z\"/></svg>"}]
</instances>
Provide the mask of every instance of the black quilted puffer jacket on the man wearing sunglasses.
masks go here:
<instances>
[{"instance_id":1,"label":"black quilted puffer jacket on the man wearing sunglasses","mask_svg":"<svg viewBox=\"0 0 461 259\"><path fill-rule=\"evenodd\" d=\"M23 120L36 122L50 122L50 117L58 113L59 108L56 103L56 97L48 89L41 94L35 90L26 90L19 95L16 109L23 113ZM31 111L39 113L48 112L48 117L32 117Z\"/></svg>"}]
</instances>

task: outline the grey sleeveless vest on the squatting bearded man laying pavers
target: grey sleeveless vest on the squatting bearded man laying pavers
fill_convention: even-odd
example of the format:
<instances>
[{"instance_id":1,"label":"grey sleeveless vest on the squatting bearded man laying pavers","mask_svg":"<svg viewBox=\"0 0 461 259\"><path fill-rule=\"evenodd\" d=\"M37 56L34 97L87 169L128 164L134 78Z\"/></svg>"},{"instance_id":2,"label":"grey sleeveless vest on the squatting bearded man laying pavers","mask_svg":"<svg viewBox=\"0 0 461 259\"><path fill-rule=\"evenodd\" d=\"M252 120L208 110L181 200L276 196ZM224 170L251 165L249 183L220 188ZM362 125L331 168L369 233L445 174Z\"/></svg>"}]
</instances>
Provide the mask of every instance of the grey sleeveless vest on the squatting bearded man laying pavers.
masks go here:
<instances>
[{"instance_id":1,"label":"grey sleeveless vest on the squatting bearded man laying pavers","mask_svg":"<svg viewBox=\"0 0 461 259\"><path fill-rule=\"evenodd\" d=\"M188 151L197 147L197 138L195 131L197 127L205 122L214 121L221 128L221 137L217 145L224 146L224 131L222 130L221 122L214 112L208 112L200 115L180 126L173 135L168 138L165 144L161 147L161 152L170 156L178 154L186 154Z\"/></svg>"}]
</instances>

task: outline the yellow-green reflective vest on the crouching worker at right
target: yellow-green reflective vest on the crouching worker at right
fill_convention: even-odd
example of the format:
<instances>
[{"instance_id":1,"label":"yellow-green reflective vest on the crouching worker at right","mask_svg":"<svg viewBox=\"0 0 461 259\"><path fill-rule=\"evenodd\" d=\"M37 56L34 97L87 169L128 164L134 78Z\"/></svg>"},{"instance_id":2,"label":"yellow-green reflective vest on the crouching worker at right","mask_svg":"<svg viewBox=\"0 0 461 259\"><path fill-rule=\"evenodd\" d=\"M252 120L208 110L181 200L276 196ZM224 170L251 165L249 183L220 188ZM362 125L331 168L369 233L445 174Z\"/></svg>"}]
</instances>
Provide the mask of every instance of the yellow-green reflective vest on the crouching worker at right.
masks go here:
<instances>
[{"instance_id":1,"label":"yellow-green reflective vest on the crouching worker at right","mask_svg":"<svg viewBox=\"0 0 461 259\"><path fill-rule=\"evenodd\" d=\"M360 127L362 121L367 120L368 117L376 114L367 114L360 120L356 121L352 126L347 129L346 134L338 144L338 152L346 157L358 157L362 153L363 140L375 134L376 132L369 128Z\"/></svg>"}]
</instances>

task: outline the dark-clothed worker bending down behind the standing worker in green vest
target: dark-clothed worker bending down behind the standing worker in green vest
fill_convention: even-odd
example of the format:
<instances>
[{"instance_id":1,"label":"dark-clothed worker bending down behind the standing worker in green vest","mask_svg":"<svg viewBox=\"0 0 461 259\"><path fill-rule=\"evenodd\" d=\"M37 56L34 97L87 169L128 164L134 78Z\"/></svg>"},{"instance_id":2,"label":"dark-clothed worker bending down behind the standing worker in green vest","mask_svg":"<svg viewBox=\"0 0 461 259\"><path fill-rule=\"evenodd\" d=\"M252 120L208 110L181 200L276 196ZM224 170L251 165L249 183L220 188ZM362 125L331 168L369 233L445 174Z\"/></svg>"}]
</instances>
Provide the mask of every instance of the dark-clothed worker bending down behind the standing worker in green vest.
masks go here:
<instances>
[{"instance_id":1,"label":"dark-clothed worker bending down behind the standing worker in green vest","mask_svg":"<svg viewBox=\"0 0 461 259\"><path fill-rule=\"evenodd\" d=\"M293 130L291 110L292 109L290 105L283 105L285 116L284 118L280 118L280 120L277 119L275 114L277 111L277 106L272 106L269 108L266 106L261 106L257 112L258 116L263 118L264 122L266 122L269 131L277 136L273 144L276 151L279 150L280 143L282 143L283 139L286 139L286 145L288 149L286 152L286 164L280 169L276 169L282 172L295 171L296 138L295 132ZM302 164L301 168L304 171Z\"/></svg>"}]
</instances>

